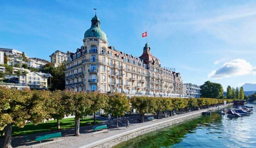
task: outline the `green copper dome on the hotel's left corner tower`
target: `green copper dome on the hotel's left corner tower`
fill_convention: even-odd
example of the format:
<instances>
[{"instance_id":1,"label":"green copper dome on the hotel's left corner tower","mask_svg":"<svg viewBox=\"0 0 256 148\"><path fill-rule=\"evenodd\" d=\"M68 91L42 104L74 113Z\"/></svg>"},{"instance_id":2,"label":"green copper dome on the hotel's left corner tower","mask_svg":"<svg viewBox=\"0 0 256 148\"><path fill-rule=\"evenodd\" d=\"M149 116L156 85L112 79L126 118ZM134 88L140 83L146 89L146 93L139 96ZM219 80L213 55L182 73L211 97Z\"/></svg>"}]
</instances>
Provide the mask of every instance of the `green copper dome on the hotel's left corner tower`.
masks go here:
<instances>
[{"instance_id":1,"label":"green copper dome on the hotel's left corner tower","mask_svg":"<svg viewBox=\"0 0 256 148\"><path fill-rule=\"evenodd\" d=\"M86 37L97 37L97 38L101 38L101 39L104 39L105 41L107 41L107 35L105 32L103 32L101 29L100 29L100 20L99 18L95 16L92 18L92 25L91 25L91 28L88 29L86 32L85 32L85 38Z\"/></svg>"}]
</instances>

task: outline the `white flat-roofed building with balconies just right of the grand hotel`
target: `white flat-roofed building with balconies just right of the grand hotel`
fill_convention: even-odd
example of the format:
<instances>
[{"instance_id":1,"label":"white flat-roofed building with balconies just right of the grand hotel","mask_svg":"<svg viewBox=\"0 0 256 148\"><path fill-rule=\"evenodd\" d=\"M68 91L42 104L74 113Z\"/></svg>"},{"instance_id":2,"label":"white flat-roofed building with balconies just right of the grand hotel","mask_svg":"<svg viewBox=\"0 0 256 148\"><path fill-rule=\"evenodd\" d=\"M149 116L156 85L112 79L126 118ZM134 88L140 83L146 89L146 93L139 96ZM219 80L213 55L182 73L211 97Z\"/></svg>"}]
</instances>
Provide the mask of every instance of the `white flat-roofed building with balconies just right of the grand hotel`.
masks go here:
<instances>
[{"instance_id":1,"label":"white flat-roofed building with balconies just right of the grand hotel","mask_svg":"<svg viewBox=\"0 0 256 148\"><path fill-rule=\"evenodd\" d=\"M200 86L195 85L195 84L183 84L183 93L188 97L188 98L200 98L201 93L200 93Z\"/></svg>"}]
</instances>

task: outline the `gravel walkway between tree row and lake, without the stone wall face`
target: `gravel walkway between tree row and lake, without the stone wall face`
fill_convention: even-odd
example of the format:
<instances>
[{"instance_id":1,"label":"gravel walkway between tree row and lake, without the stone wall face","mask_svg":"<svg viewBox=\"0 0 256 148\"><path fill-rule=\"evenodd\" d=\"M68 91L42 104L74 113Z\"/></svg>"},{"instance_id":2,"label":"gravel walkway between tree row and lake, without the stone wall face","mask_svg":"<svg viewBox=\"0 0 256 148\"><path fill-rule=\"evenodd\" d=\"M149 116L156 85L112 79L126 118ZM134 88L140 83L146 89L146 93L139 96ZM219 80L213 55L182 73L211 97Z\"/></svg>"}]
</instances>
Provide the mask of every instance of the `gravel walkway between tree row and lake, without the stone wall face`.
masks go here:
<instances>
[{"instance_id":1,"label":"gravel walkway between tree row and lake, without the stone wall face","mask_svg":"<svg viewBox=\"0 0 256 148\"><path fill-rule=\"evenodd\" d=\"M216 107L211 107L210 109L214 109ZM129 131L132 130L136 130L136 129L141 129L143 127L152 125L152 124L156 124L156 123L161 123L161 122L165 122L165 121L169 121L169 120L175 120L175 119L179 119L188 115L193 115L193 114L197 114L199 112L202 111L206 111L208 109L203 109L203 110L198 110L198 111L193 111L193 112L182 112L181 115L175 115L172 117L167 117L167 118L163 118L163 114L160 114L160 119L156 119L156 121L147 121L145 120L144 123L139 123L137 122L137 119L140 118L139 116L134 116L134 117L129 117L129 122L130 124L130 128L126 129L126 118L119 118L118 119L118 125L119 128L116 128L116 120L114 121L108 121L108 120L104 120L102 123L97 124L98 125L103 125L103 124L107 124L108 130L105 132L101 132L98 134L94 134L94 131L92 131L92 127L96 126L96 125L91 125L91 126L86 126L86 127L80 127L80 136L74 136L74 128L71 129L65 129L65 130L58 130L58 131L50 131L50 132L41 132L41 133L37 133L37 134L31 134L31 135L25 135L25 136L17 136L17 137L13 137L12 138L12 146L14 147L32 147L34 144L38 144L39 142L35 142L35 137L36 136L40 136L40 135L46 135L46 134L51 134L51 133L56 133L56 132L62 132L62 139L64 139L63 141L58 141L58 142L54 142L54 143L49 143L49 144L44 144L41 146L37 146L40 148L77 148L77 147L91 147L93 146L93 144L97 144L98 142L102 142L104 140L107 140L107 138L110 137L115 137L117 135L123 134L123 133L129 133ZM167 113L167 112L165 112ZM144 119L147 119L147 117L151 117L153 115L147 115L145 116ZM156 118L156 115L154 116ZM98 119L100 119L98 117ZM43 141L45 142L45 141ZM42 142L42 143L43 143ZM93 143L93 144L92 144ZM2 145L2 139L0 140L0 145Z\"/></svg>"}]
</instances>

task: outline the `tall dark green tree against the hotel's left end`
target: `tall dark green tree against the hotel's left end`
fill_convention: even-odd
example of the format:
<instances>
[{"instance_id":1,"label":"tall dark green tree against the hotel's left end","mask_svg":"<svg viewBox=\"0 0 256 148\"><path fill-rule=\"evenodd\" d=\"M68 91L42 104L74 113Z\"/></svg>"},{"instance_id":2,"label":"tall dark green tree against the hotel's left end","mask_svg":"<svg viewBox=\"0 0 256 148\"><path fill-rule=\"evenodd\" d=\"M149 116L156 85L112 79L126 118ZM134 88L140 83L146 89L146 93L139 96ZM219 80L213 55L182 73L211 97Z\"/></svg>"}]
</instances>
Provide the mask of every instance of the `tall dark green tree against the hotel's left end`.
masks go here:
<instances>
[{"instance_id":1,"label":"tall dark green tree against the hotel's left end","mask_svg":"<svg viewBox=\"0 0 256 148\"><path fill-rule=\"evenodd\" d=\"M63 61L54 71L52 78L52 88L54 90L65 90L65 67L66 61Z\"/></svg>"}]
</instances>

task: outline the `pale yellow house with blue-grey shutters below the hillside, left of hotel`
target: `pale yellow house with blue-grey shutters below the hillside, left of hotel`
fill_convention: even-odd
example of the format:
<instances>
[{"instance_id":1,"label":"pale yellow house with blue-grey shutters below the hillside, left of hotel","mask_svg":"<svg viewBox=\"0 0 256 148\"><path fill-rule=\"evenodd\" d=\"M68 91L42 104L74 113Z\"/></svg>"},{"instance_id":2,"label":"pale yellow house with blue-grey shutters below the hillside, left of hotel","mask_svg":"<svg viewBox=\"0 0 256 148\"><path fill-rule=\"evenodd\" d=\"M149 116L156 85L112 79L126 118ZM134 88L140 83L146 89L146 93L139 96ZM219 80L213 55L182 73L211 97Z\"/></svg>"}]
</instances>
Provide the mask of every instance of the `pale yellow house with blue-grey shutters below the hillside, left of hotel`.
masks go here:
<instances>
[{"instance_id":1,"label":"pale yellow house with blue-grey shutters below the hillside, left of hotel","mask_svg":"<svg viewBox=\"0 0 256 148\"><path fill-rule=\"evenodd\" d=\"M47 79L50 74L31 72L19 75L19 84L28 84L30 88L47 89Z\"/></svg>"}]
</instances>

